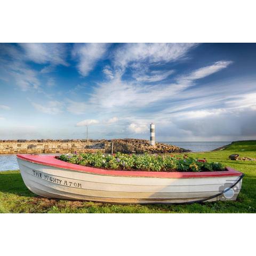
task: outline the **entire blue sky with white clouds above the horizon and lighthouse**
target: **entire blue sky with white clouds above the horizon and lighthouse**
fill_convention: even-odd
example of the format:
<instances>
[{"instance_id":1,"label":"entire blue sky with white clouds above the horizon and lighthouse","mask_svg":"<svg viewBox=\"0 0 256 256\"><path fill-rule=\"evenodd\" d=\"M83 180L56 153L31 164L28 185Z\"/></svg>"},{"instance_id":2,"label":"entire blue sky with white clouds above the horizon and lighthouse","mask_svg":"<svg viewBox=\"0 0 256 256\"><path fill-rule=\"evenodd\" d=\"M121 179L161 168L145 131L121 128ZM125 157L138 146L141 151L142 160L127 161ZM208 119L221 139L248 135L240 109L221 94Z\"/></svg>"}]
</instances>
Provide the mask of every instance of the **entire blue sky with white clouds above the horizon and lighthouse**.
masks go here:
<instances>
[{"instance_id":1,"label":"entire blue sky with white clouds above the horizon and lighthouse","mask_svg":"<svg viewBox=\"0 0 256 256\"><path fill-rule=\"evenodd\" d=\"M256 137L256 44L0 44L0 139Z\"/></svg>"}]
</instances>

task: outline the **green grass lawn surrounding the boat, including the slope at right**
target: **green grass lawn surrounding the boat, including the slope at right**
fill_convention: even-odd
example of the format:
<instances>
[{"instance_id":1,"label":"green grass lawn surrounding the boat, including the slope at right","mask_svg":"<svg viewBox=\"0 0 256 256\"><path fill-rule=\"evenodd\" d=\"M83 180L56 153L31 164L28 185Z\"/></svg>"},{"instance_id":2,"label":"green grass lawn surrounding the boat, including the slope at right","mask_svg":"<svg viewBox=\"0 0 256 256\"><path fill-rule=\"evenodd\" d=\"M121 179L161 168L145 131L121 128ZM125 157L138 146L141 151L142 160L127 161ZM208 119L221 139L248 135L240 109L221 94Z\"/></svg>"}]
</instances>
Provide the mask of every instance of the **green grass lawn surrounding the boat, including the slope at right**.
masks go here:
<instances>
[{"instance_id":1,"label":"green grass lawn surrounding the boat, including the slope at right","mask_svg":"<svg viewBox=\"0 0 256 256\"><path fill-rule=\"evenodd\" d=\"M237 141L223 150L189 153L221 162L245 174L237 201L191 205L114 205L106 203L47 199L34 195L25 186L19 171L0 172L0 213L255 213L256 162L231 161L239 154L256 158L256 141Z\"/></svg>"}]
</instances>

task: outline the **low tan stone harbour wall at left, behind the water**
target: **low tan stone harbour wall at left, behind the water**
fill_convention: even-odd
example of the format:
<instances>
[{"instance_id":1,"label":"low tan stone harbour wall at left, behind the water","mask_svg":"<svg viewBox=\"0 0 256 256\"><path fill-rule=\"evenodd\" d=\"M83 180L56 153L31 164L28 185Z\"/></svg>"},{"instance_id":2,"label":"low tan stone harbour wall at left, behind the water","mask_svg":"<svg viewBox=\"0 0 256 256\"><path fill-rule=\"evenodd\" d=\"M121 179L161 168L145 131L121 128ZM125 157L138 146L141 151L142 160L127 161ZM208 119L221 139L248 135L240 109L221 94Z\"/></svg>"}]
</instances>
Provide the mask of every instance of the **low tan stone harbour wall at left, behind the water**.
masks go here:
<instances>
[{"instance_id":1,"label":"low tan stone harbour wall at left, behind the water","mask_svg":"<svg viewBox=\"0 0 256 256\"><path fill-rule=\"evenodd\" d=\"M0 154L54 154L54 153L85 153L102 151L104 143L95 142L0 142Z\"/></svg>"}]
</instances>

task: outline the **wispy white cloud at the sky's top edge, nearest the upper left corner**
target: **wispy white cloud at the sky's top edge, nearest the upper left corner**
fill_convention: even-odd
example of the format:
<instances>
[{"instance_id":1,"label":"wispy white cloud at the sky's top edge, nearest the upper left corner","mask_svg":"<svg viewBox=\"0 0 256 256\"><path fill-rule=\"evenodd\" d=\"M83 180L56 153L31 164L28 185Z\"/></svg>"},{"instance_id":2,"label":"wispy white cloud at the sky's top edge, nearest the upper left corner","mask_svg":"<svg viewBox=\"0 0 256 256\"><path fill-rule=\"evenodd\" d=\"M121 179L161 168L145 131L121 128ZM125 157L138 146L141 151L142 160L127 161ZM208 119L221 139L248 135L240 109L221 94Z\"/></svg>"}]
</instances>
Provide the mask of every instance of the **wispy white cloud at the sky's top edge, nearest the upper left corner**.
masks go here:
<instances>
[{"instance_id":1,"label":"wispy white cloud at the sky's top edge, nearest the upper left corner","mask_svg":"<svg viewBox=\"0 0 256 256\"><path fill-rule=\"evenodd\" d=\"M62 43L21 43L26 58L38 64L68 66L66 45Z\"/></svg>"}]
</instances>

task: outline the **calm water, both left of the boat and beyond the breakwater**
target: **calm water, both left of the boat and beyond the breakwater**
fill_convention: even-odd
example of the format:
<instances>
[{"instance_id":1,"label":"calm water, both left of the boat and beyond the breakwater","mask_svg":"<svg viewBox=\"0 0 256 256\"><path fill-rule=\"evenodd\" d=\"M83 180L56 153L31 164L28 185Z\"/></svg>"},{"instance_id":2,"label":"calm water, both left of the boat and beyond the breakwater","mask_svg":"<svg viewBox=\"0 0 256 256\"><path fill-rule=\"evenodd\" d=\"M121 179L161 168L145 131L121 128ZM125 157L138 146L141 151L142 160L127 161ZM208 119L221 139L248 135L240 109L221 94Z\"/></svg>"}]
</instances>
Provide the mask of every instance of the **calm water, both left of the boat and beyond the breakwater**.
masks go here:
<instances>
[{"instance_id":1,"label":"calm water, both left of the boat and beyond the breakwater","mask_svg":"<svg viewBox=\"0 0 256 256\"><path fill-rule=\"evenodd\" d=\"M169 145L175 145L180 148L190 149L194 152L209 151L231 143L231 141L175 141L163 142ZM16 155L0 155L0 171L18 170Z\"/></svg>"}]
</instances>

